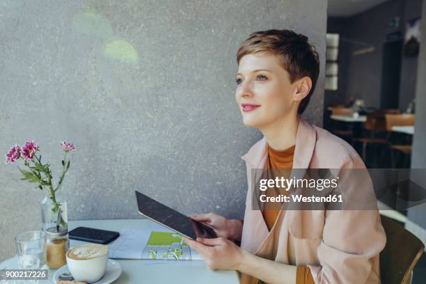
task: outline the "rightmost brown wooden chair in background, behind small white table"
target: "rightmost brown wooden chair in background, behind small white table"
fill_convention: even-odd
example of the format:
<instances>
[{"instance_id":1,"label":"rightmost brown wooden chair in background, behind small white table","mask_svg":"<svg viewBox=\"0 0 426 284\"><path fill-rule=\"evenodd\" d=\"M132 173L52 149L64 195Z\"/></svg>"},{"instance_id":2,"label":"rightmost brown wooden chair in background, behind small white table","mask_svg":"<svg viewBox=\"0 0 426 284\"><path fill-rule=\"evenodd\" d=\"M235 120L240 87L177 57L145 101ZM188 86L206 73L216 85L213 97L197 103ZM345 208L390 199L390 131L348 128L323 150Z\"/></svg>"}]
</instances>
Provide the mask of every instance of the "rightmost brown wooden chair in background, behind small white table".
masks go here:
<instances>
[{"instance_id":1,"label":"rightmost brown wooden chair in background, behind small white table","mask_svg":"<svg viewBox=\"0 0 426 284\"><path fill-rule=\"evenodd\" d=\"M387 113L385 115L386 118L386 130L388 133L392 133L392 127L394 126L409 126L414 125L414 115L413 114L390 114ZM392 143L392 139L389 135L389 148L390 148L390 159L392 168L395 168L395 152L398 152L405 157L405 166L409 167L409 159L411 157L412 146L411 143L409 145L400 144L400 143Z\"/></svg>"}]
</instances>

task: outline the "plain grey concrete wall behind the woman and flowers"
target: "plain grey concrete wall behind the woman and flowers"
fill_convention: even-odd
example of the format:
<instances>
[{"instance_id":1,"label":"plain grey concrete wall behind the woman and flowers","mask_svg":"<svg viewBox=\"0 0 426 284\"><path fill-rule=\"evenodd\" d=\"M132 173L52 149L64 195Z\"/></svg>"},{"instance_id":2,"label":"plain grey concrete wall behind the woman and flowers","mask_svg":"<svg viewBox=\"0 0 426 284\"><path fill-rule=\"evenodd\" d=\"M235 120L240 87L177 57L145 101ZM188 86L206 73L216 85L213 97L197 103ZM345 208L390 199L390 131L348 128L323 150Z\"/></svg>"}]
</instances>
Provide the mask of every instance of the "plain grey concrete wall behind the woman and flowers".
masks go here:
<instances>
[{"instance_id":1,"label":"plain grey concrete wall behind the woman and flowers","mask_svg":"<svg viewBox=\"0 0 426 284\"><path fill-rule=\"evenodd\" d=\"M326 0L0 3L0 149L36 139L70 219L138 218L134 190L184 214L242 217L240 156L260 139L235 103L235 54L253 31L295 29L324 62ZM306 117L322 122L324 64ZM0 261L40 228L44 194L0 163Z\"/></svg>"}]
</instances>

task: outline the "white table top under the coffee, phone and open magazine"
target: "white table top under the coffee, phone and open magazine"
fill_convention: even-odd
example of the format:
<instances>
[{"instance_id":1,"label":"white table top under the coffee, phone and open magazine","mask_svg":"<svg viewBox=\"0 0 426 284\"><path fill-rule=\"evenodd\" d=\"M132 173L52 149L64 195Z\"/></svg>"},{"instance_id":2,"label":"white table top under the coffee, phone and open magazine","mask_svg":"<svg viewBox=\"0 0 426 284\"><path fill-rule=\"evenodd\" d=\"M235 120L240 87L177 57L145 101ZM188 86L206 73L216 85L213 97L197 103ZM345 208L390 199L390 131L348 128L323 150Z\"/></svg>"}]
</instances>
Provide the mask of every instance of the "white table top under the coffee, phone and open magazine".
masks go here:
<instances>
[{"instance_id":1,"label":"white table top under the coffee, phone and open magazine","mask_svg":"<svg viewBox=\"0 0 426 284\"><path fill-rule=\"evenodd\" d=\"M122 230L123 228L148 228L148 219L123 220L90 220L69 221L68 228L72 230L79 226L99 228L104 230ZM70 240L70 246L84 242ZM123 274L113 283L239 283L237 271L212 271L205 267L203 261L182 261L182 263L143 265L141 260L117 260L123 267ZM165 260L166 261L166 260ZM0 269L17 268L17 258L10 258L0 263ZM57 269L49 269L49 280L39 281L40 284L54 283L53 276ZM19 281L19 283L24 283Z\"/></svg>"}]
</instances>

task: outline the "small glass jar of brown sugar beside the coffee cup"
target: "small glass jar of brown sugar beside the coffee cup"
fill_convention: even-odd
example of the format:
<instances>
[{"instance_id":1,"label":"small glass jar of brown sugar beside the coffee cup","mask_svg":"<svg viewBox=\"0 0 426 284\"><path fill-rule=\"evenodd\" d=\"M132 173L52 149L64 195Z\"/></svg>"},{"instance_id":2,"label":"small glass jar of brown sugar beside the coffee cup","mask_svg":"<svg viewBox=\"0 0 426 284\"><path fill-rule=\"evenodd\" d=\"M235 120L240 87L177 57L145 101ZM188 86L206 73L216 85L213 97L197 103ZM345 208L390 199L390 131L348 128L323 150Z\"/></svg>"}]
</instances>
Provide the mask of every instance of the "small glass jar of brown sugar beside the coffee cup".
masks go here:
<instances>
[{"instance_id":1,"label":"small glass jar of brown sugar beside the coffee cup","mask_svg":"<svg viewBox=\"0 0 426 284\"><path fill-rule=\"evenodd\" d=\"M67 264L65 255L70 248L68 229L65 227L51 227L46 230L46 263L50 268L63 267Z\"/></svg>"}]
</instances>

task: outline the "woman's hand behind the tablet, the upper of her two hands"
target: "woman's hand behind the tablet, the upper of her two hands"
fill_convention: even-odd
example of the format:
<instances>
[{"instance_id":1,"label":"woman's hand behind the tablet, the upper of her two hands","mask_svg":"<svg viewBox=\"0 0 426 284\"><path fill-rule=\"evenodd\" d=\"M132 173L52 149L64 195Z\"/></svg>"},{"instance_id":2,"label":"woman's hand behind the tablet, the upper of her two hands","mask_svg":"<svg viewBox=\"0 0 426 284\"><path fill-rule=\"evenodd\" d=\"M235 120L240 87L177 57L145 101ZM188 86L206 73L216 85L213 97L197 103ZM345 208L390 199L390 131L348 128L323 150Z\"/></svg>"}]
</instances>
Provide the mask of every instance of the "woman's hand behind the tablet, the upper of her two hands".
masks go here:
<instances>
[{"instance_id":1,"label":"woman's hand behind the tablet, the upper of her two hands","mask_svg":"<svg viewBox=\"0 0 426 284\"><path fill-rule=\"evenodd\" d=\"M190 215L189 218L212 228L218 237L241 240L242 221L240 220L226 219L216 213L194 214Z\"/></svg>"}]
</instances>

